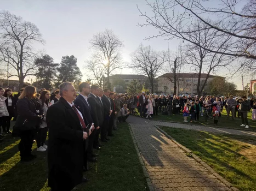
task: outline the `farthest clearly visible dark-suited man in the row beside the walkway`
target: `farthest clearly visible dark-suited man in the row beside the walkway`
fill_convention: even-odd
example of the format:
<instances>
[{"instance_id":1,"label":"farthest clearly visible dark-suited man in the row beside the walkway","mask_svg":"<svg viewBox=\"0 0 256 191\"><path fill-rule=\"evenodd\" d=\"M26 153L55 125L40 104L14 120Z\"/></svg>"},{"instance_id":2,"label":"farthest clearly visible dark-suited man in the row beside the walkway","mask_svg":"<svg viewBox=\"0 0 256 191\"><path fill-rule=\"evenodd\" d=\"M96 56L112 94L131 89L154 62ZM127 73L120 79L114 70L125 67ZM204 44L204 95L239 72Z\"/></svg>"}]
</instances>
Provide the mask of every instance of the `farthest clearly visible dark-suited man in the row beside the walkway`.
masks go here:
<instances>
[{"instance_id":1,"label":"farthest clearly visible dark-suited man in the row beside the walkway","mask_svg":"<svg viewBox=\"0 0 256 191\"><path fill-rule=\"evenodd\" d=\"M104 122L103 122L103 128L101 129L101 141L107 142L110 139L107 138L107 132L109 130L109 121L110 121L110 115L112 114L111 109L111 100L109 98L109 89L104 89L103 97L101 98L101 101L104 106Z\"/></svg>"}]
</instances>

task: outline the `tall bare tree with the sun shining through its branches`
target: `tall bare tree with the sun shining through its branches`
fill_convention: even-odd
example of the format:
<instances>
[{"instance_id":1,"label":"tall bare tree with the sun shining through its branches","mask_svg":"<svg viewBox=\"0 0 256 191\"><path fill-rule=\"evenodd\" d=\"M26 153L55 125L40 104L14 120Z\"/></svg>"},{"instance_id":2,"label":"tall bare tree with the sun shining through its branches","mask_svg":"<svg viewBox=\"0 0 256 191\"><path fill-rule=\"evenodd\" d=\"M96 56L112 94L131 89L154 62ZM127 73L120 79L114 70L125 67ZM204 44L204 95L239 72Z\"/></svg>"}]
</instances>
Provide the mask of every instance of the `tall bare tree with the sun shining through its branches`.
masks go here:
<instances>
[{"instance_id":1,"label":"tall bare tree with the sun shining through its branches","mask_svg":"<svg viewBox=\"0 0 256 191\"><path fill-rule=\"evenodd\" d=\"M104 32L93 35L90 44L95 51L91 60L104 71L106 83L109 85L109 76L114 70L123 67L121 55L123 43L113 31L106 29Z\"/></svg>"}]
</instances>

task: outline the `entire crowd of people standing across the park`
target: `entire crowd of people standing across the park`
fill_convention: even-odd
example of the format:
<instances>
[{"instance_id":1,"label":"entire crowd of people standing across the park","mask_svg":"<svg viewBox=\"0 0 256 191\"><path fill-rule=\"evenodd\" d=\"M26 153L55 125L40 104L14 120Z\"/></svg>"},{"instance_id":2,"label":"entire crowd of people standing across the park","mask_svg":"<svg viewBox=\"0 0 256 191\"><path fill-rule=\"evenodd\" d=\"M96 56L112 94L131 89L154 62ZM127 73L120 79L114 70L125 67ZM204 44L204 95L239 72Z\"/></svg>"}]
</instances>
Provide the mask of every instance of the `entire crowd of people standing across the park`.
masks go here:
<instances>
[{"instance_id":1,"label":"entire crowd of people standing across the park","mask_svg":"<svg viewBox=\"0 0 256 191\"><path fill-rule=\"evenodd\" d=\"M15 122L13 134L20 136L21 162L36 158L31 153L36 141L37 151L48 151L48 183L52 190L71 190L87 182L83 171L90 170L89 162L97 162L104 144L111 141L118 124L129 115L152 118L163 115L181 115L184 122L194 122L204 116L218 124L223 109L227 118L241 117L242 127L248 128L247 112L252 108L256 120L256 102L246 97L234 99L214 96L158 96L145 92L129 95L110 92L88 82L79 84L79 94L70 82L63 82L52 93L45 88L40 92L26 86L13 96L12 89L0 88L0 127L3 134L11 134L10 121ZM213 115L212 115L213 114ZM48 144L46 144L48 134Z\"/></svg>"}]
</instances>

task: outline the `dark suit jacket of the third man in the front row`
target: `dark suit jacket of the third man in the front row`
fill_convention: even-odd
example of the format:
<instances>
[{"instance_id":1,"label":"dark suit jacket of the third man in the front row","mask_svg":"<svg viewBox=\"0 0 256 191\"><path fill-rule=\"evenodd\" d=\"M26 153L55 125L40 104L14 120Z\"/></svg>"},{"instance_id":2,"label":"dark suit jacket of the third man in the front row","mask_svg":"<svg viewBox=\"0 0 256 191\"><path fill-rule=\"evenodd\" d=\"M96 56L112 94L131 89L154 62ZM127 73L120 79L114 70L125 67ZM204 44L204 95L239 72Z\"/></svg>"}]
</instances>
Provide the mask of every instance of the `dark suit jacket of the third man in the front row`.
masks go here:
<instances>
[{"instance_id":1,"label":"dark suit jacket of the third man in the front row","mask_svg":"<svg viewBox=\"0 0 256 191\"><path fill-rule=\"evenodd\" d=\"M100 103L99 99L95 98L93 94L89 94L88 102L90 104L94 127L96 128L98 126L102 126L104 120L103 105Z\"/></svg>"}]
</instances>

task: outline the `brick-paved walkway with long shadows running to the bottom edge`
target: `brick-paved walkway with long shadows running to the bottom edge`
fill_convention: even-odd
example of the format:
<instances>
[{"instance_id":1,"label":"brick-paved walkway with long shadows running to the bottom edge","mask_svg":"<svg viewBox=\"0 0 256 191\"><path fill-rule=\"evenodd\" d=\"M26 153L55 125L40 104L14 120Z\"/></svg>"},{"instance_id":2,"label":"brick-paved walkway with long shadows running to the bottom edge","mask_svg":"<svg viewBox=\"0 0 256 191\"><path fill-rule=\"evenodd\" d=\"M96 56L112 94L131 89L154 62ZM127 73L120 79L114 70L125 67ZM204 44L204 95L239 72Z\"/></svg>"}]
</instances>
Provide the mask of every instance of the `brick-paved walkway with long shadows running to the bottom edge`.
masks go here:
<instances>
[{"instance_id":1,"label":"brick-paved walkway with long shadows running to the bottom edge","mask_svg":"<svg viewBox=\"0 0 256 191\"><path fill-rule=\"evenodd\" d=\"M231 190L196 160L187 157L153 126L155 122L134 116L127 121L155 190Z\"/></svg>"}]
</instances>

